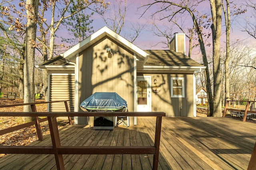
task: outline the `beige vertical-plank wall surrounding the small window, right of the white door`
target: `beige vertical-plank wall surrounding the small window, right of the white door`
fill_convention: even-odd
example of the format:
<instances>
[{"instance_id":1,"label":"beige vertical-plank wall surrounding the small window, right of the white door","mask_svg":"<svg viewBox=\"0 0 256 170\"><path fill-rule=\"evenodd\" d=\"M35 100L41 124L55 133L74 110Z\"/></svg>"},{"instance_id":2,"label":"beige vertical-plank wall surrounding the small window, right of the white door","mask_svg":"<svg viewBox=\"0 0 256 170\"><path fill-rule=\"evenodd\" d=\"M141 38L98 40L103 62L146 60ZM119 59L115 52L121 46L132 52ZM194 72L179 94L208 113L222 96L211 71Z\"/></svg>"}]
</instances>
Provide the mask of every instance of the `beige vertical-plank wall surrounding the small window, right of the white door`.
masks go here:
<instances>
[{"instance_id":1,"label":"beige vertical-plank wall surrounding the small window, right of the white door","mask_svg":"<svg viewBox=\"0 0 256 170\"><path fill-rule=\"evenodd\" d=\"M164 111L166 116L194 116L193 74L137 73L137 75L151 76L152 87L154 86L154 79L157 80L160 92L152 92L151 94L152 111ZM171 98L171 77L184 77L184 98Z\"/></svg>"}]
</instances>

